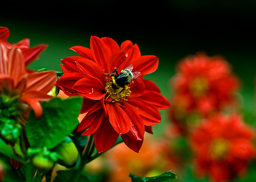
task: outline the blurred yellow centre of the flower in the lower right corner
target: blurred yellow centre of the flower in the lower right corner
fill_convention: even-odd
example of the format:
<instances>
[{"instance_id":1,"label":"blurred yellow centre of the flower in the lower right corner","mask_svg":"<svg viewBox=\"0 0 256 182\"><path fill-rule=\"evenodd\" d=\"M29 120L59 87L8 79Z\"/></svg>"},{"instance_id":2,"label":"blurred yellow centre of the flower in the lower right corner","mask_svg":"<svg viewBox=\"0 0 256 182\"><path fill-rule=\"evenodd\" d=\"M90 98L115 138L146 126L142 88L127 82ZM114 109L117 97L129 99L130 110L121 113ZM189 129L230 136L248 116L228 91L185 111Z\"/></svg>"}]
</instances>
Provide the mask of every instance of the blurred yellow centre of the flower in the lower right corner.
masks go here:
<instances>
[{"instance_id":1,"label":"blurred yellow centre of the flower in the lower right corner","mask_svg":"<svg viewBox=\"0 0 256 182\"><path fill-rule=\"evenodd\" d=\"M224 138L218 138L210 146L210 155L213 159L223 159L229 151L229 142Z\"/></svg>"}]
</instances>

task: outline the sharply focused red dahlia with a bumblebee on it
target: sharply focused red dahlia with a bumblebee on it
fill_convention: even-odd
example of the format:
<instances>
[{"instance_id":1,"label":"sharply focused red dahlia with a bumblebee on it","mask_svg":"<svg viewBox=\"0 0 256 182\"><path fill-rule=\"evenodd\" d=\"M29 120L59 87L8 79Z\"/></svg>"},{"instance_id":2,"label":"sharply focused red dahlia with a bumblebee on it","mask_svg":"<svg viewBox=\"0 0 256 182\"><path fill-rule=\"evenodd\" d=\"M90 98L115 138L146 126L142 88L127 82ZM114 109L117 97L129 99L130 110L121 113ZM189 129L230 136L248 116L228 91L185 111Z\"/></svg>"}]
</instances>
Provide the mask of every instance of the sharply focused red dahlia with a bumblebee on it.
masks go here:
<instances>
[{"instance_id":1,"label":"sharply focused red dahlia with a bumblebee on it","mask_svg":"<svg viewBox=\"0 0 256 182\"><path fill-rule=\"evenodd\" d=\"M141 56L138 45L128 40L119 47L111 38L92 36L90 45L91 50L82 46L70 48L81 57L61 60L64 75L56 86L68 96L84 98L81 114L88 114L77 131L94 134L99 153L113 146L119 135L129 148L139 152L145 130L152 133L151 126L161 120L158 109L170 105L155 83L143 79L157 69L158 58ZM140 72L139 78L116 89L113 71L116 68L120 74L129 65L133 65L133 73Z\"/></svg>"}]
</instances>

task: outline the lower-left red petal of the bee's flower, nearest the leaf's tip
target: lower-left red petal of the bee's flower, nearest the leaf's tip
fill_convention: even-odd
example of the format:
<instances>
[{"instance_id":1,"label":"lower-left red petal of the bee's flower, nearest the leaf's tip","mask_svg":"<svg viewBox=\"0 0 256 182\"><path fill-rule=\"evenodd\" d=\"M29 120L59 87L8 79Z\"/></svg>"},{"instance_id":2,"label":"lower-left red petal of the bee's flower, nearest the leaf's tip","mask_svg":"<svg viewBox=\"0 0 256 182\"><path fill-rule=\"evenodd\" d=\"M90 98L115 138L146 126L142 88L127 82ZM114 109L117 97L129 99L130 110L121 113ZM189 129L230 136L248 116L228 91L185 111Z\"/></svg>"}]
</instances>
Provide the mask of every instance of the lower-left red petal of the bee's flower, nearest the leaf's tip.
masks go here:
<instances>
[{"instance_id":1,"label":"lower-left red petal of the bee's flower, nearest the leaf's tip","mask_svg":"<svg viewBox=\"0 0 256 182\"><path fill-rule=\"evenodd\" d=\"M89 113L88 113L89 114ZM104 110L99 109L90 115L85 115L77 128L77 132L84 131L83 136L92 135L98 130L100 123L104 117Z\"/></svg>"}]
</instances>

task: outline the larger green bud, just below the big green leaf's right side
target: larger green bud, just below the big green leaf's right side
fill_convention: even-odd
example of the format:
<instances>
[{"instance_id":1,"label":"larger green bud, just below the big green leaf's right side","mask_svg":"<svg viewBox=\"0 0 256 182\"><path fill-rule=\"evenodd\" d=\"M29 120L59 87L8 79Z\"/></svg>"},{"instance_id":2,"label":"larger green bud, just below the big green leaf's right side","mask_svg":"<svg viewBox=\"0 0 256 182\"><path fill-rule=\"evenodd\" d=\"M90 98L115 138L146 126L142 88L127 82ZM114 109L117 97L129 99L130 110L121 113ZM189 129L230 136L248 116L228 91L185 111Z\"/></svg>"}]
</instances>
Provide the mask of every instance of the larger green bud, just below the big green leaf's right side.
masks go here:
<instances>
[{"instance_id":1,"label":"larger green bud, just below the big green leaf's right side","mask_svg":"<svg viewBox=\"0 0 256 182\"><path fill-rule=\"evenodd\" d=\"M71 168L76 165L78 150L75 144L71 141L68 143L61 143L56 146L54 150L60 155L58 163L67 168Z\"/></svg>"}]
</instances>

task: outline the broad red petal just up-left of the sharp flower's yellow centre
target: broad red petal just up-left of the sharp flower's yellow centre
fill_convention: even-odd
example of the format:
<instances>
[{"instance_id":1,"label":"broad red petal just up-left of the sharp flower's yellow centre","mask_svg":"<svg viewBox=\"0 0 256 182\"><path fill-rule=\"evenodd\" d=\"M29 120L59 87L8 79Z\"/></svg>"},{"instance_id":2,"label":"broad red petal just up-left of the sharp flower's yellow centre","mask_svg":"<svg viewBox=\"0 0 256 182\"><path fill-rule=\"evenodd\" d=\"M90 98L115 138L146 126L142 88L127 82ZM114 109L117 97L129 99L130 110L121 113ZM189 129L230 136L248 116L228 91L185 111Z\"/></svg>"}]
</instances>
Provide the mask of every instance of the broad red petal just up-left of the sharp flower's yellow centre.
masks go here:
<instances>
[{"instance_id":1,"label":"broad red petal just up-left of the sharp flower's yellow centre","mask_svg":"<svg viewBox=\"0 0 256 182\"><path fill-rule=\"evenodd\" d=\"M89 75L89 77L98 78L102 84L105 84L105 75L103 74L104 71L96 62L90 59L78 59L76 61L76 65L82 75L84 75L84 72L85 74ZM84 77L88 76L84 75Z\"/></svg>"}]
</instances>

